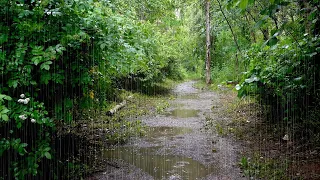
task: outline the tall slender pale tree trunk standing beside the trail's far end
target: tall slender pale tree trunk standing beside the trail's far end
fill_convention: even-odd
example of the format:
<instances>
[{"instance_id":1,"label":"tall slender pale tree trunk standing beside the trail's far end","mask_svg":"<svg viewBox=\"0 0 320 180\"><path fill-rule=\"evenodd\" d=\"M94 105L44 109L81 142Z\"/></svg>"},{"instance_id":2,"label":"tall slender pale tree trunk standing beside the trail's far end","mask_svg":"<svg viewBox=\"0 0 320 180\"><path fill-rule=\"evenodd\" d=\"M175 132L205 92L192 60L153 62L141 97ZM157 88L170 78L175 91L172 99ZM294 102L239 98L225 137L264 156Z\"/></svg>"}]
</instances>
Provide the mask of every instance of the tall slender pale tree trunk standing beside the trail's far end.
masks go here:
<instances>
[{"instance_id":1,"label":"tall slender pale tree trunk standing beside the trail's far end","mask_svg":"<svg viewBox=\"0 0 320 180\"><path fill-rule=\"evenodd\" d=\"M210 72L210 0L206 2L206 83L211 82Z\"/></svg>"}]
</instances>

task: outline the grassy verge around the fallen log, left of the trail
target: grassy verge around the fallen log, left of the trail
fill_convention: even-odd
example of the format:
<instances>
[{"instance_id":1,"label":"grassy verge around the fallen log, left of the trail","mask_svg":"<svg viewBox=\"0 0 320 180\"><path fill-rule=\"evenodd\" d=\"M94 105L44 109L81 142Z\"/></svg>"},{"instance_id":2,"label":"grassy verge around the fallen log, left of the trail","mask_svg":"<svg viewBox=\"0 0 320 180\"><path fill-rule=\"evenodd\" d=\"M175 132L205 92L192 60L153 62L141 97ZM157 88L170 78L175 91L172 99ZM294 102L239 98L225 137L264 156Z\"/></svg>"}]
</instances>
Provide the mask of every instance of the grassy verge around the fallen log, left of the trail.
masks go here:
<instances>
[{"instance_id":1,"label":"grassy verge around the fallen log, left of the trail","mask_svg":"<svg viewBox=\"0 0 320 180\"><path fill-rule=\"evenodd\" d=\"M80 139L73 141L78 147L77 151L81 153L73 155L75 160L70 159L68 166L74 168L70 175L85 176L84 174L103 170L106 159L97 159L97 154L102 154L104 147L124 144L132 137L144 135L146 131L141 117L164 112L169 106L168 100L174 98L169 92L175 84L172 80L158 83L148 90L149 93L118 90L114 101L106 102L107 106L104 108L93 104L76 112L77 121L58 126L60 137L66 137L67 140L69 136ZM123 100L127 103L122 109L113 116L106 115L108 110Z\"/></svg>"}]
</instances>

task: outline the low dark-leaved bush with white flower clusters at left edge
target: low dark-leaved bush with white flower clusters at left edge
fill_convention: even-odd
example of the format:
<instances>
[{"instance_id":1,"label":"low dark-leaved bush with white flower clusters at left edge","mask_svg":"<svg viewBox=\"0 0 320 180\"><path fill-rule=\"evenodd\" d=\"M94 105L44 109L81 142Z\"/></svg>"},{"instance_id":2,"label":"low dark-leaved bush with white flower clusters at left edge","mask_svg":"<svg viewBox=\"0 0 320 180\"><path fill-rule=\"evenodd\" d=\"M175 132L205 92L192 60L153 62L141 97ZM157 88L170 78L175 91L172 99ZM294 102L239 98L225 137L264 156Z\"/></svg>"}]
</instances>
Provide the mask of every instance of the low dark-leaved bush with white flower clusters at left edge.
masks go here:
<instances>
[{"instance_id":1,"label":"low dark-leaved bush with white flower clusters at left edge","mask_svg":"<svg viewBox=\"0 0 320 180\"><path fill-rule=\"evenodd\" d=\"M28 94L27 94L28 96ZM14 98L0 94L2 107L0 121L0 157L11 162L4 171L12 171L5 178L24 179L28 174L37 175L39 163L43 158L51 159L50 131L55 126L47 117L43 103L34 101L21 94ZM7 100L7 101L4 101ZM22 133L30 133L21 136ZM35 138L30 139L29 137Z\"/></svg>"}]
</instances>

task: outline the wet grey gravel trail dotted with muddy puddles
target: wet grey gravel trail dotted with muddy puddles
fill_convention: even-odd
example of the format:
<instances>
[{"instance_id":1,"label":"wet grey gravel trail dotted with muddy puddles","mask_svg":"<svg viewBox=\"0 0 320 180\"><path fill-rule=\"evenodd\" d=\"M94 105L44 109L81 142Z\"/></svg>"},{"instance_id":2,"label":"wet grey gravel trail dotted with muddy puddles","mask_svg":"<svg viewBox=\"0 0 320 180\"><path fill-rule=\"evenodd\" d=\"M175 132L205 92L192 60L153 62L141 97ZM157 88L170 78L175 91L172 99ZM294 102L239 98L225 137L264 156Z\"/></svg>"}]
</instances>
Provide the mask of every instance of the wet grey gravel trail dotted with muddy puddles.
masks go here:
<instances>
[{"instance_id":1,"label":"wet grey gravel trail dotted with muddy puddles","mask_svg":"<svg viewBox=\"0 0 320 180\"><path fill-rule=\"evenodd\" d=\"M163 114L142 118L148 127L144 137L105 150L104 158L117 165L90 179L243 179L237 166L240 145L203 128L206 117L218 120L219 94L194 83L177 85Z\"/></svg>"}]
</instances>

